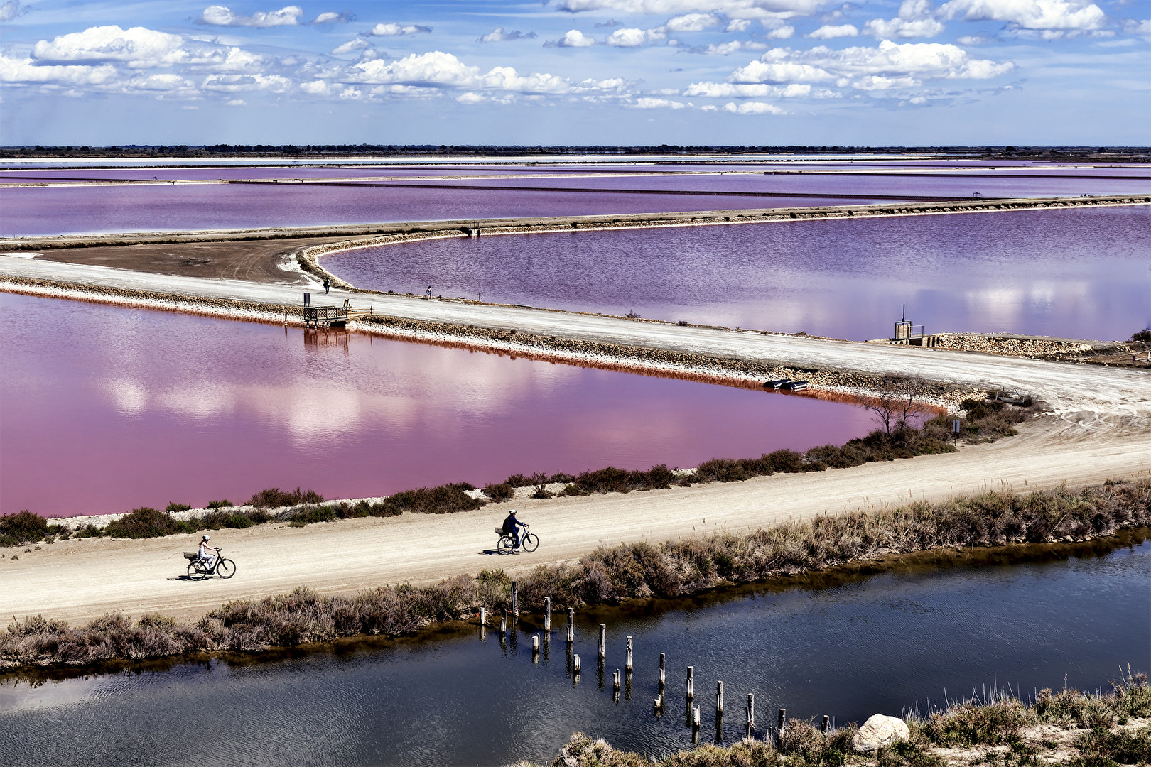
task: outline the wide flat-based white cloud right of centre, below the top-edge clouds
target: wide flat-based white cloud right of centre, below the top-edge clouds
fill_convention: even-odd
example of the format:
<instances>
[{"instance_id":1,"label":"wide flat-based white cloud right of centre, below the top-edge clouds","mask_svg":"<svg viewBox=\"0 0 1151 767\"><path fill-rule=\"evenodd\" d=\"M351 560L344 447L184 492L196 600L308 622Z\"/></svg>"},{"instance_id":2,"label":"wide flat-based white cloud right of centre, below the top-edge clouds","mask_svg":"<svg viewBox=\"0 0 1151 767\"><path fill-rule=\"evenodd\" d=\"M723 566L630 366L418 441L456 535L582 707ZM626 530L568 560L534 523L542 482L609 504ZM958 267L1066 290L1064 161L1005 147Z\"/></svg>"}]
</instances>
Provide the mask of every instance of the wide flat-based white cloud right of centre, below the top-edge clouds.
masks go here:
<instances>
[{"instance_id":1,"label":"wide flat-based white cloud right of centre, below the top-edge clouds","mask_svg":"<svg viewBox=\"0 0 1151 767\"><path fill-rule=\"evenodd\" d=\"M939 43L892 43L877 47L832 51L772 48L759 61L735 69L730 83L815 83L833 80L839 87L863 91L912 87L924 79L989 79L1014 69L1012 62L974 59L954 45Z\"/></svg>"}]
</instances>

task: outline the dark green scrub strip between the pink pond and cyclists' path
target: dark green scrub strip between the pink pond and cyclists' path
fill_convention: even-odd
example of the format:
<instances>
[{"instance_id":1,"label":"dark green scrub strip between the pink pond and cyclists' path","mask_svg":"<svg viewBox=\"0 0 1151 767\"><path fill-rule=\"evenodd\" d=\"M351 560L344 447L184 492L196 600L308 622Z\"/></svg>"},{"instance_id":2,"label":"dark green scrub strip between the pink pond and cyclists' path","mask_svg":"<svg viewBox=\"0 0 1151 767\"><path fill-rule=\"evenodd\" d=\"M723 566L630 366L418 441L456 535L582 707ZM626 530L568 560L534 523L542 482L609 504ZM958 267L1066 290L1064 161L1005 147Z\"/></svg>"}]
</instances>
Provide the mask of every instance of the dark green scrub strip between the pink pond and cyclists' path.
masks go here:
<instances>
[{"instance_id":1,"label":"dark green scrub strip between the pink pond and cyclists' path","mask_svg":"<svg viewBox=\"0 0 1151 767\"><path fill-rule=\"evenodd\" d=\"M897 382L898 384L898 382ZM1036 408L1007 405L998 400L974 400L962 402L966 414L959 419L959 439L968 444L992 442L1015 432L1015 424L1030 419ZM739 482L772 474L823 471L840 469L876 461L892 461L914 458L925 453L950 453L953 445L951 415L938 415L920 428L914 428L902 416L889 420L891 431L878 429L866 437L852 439L845 445L820 445L806 453L793 450L777 450L760 458L714 458L689 470L673 470L665 465L647 470L603 469L571 474L513 474L506 481L483 489L483 498L474 498L468 491L475 488L466 482L443 484L437 488L404 490L378 501L360 500L355 504L342 501L325 504L323 497L314 490L280 490L268 488L254 493L244 506L234 506L229 500L213 500L207 505L209 513L192 519L176 519L173 512L188 511L188 505L171 503L166 511L140 507L104 528L89 524L76 531L48 521L28 511L0 516L0 546L16 546L37 543L48 537L67 538L113 536L117 538L154 538L158 536L191 534L199 530L220 528L247 528L264 522L288 522L296 527L315 522L360 516L396 516L399 514L451 514L471 512L487 503L501 503L513 498L517 488L534 488L533 498L549 498L546 485L563 484L558 496L589 496L592 493L632 492L633 490L665 490L672 485L688 488L707 482Z\"/></svg>"}]
</instances>

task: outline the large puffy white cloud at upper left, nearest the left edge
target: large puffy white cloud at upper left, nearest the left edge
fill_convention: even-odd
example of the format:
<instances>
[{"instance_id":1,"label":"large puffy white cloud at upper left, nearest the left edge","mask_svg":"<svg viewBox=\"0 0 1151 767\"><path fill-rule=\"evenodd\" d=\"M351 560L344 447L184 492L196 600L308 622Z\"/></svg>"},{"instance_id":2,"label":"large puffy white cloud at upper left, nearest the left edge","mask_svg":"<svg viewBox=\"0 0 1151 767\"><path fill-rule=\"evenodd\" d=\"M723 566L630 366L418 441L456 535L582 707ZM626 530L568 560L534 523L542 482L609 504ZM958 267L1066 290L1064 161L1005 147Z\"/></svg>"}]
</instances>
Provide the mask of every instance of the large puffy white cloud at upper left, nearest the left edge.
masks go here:
<instances>
[{"instance_id":1,"label":"large puffy white cloud at upper left, nearest the left edge","mask_svg":"<svg viewBox=\"0 0 1151 767\"><path fill-rule=\"evenodd\" d=\"M168 67L189 60L184 38L143 26L90 26L32 47L37 61L85 62L122 61L130 68Z\"/></svg>"}]
</instances>

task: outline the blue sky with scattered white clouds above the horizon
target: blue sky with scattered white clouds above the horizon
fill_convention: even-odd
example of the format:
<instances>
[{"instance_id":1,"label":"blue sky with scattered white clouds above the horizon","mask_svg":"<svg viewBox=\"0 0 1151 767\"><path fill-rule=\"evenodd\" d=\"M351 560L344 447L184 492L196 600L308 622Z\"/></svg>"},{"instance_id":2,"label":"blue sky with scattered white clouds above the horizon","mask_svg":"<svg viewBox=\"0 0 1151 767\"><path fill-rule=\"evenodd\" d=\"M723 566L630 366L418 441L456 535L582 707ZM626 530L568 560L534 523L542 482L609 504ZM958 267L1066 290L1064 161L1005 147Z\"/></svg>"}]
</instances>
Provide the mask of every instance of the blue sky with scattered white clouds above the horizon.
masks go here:
<instances>
[{"instance_id":1,"label":"blue sky with scattered white clouds above the horizon","mask_svg":"<svg viewBox=\"0 0 1151 767\"><path fill-rule=\"evenodd\" d=\"M0 144L1151 144L1151 0L0 0Z\"/></svg>"}]
</instances>

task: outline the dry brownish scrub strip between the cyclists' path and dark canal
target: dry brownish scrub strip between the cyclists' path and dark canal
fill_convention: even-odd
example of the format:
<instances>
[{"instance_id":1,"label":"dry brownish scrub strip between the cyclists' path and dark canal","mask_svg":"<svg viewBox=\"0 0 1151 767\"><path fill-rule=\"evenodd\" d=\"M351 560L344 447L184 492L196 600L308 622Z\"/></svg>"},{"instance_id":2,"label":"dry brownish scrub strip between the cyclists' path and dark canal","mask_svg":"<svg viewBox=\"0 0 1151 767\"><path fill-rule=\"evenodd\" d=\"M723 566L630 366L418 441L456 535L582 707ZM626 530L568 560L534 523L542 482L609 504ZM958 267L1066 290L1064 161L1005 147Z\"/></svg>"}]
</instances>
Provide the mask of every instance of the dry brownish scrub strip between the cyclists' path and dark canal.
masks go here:
<instances>
[{"instance_id":1,"label":"dry brownish scrub strip between the cyclists' path and dark canal","mask_svg":"<svg viewBox=\"0 0 1151 767\"><path fill-rule=\"evenodd\" d=\"M418 498L413 493L412 501ZM162 523L155 517L160 512L148 512L131 524ZM557 608L681 597L887 554L1008 542L1085 540L1149 524L1151 480L1108 482L1077 492L991 492L818 516L747 534L602 546L578 562L541 565L519 576L518 593L520 606L528 611L541 608L544 597ZM351 597L297 589L231 601L190 624L155 616L132 624L120 613L79 628L39 616L14 619L0 632L0 666L90 665L198 651L253 652L356 635L402 635L471 619L481 605L490 614L508 609L510 586L503 570L483 570L474 577L458 575L433 585L386 585ZM1051 710L1055 708L1052 704Z\"/></svg>"}]
</instances>

